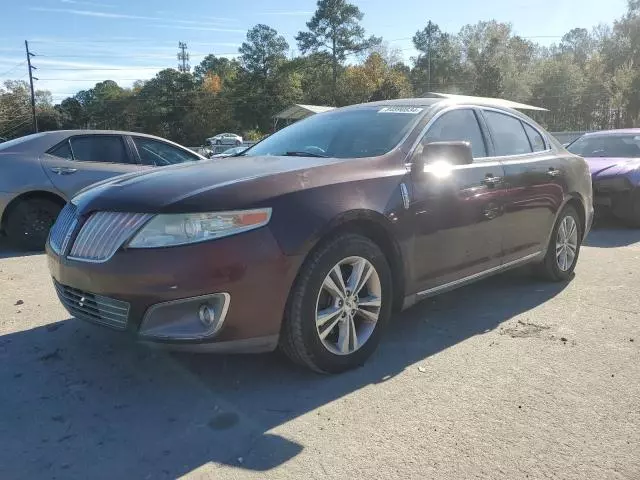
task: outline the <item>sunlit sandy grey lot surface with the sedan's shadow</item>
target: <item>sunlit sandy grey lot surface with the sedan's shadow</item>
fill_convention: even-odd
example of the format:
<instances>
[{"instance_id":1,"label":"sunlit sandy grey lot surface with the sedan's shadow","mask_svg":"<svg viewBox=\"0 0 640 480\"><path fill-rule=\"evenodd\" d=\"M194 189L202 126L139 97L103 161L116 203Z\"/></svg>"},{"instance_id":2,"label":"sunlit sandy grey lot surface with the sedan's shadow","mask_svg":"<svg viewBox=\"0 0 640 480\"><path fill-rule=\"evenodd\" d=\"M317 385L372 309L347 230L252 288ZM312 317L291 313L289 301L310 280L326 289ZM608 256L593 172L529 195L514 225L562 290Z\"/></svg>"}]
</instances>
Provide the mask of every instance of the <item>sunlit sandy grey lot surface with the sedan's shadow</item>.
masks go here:
<instances>
[{"instance_id":1,"label":"sunlit sandy grey lot surface with the sedan's shadow","mask_svg":"<svg viewBox=\"0 0 640 480\"><path fill-rule=\"evenodd\" d=\"M640 478L640 231L395 318L365 367L148 350L0 252L0 478Z\"/></svg>"}]
</instances>

